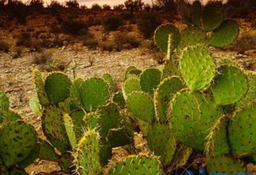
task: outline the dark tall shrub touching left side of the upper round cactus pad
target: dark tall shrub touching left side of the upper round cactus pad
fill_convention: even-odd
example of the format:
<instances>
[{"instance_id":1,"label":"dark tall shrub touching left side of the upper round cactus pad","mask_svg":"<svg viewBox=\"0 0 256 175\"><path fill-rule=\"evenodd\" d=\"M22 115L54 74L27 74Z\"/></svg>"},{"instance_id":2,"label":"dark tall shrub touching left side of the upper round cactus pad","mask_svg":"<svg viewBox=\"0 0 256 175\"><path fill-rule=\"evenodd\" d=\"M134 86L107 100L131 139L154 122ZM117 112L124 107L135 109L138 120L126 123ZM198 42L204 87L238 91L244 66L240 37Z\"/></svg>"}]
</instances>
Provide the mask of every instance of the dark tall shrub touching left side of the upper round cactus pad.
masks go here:
<instances>
[{"instance_id":1,"label":"dark tall shrub touching left side of the upper round cactus pad","mask_svg":"<svg viewBox=\"0 0 256 175\"><path fill-rule=\"evenodd\" d=\"M143 13L138 21L138 29L145 38L153 36L155 29L161 24L161 19L156 13Z\"/></svg>"}]
</instances>

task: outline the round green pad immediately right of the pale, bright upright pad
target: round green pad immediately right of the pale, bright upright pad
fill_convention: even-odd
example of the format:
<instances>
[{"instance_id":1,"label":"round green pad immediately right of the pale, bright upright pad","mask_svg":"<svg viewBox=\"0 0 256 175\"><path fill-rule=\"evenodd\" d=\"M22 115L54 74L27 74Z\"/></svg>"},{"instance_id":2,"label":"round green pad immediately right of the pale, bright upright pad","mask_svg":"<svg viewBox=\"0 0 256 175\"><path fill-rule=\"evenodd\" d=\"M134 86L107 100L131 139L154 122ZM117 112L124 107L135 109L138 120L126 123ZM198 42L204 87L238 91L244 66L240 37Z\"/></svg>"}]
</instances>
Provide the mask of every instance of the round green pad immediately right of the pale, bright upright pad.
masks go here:
<instances>
[{"instance_id":1,"label":"round green pad immediately right of the pale, bright upright pad","mask_svg":"<svg viewBox=\"0 0 256 175\"><path fill-rule=\"evenodd\" d=\"M247 92L248 81L241 69L232 65L221 65L220 74L211 87L215 103L228 105L238 102Z\"/></svg>"}]
</instances>

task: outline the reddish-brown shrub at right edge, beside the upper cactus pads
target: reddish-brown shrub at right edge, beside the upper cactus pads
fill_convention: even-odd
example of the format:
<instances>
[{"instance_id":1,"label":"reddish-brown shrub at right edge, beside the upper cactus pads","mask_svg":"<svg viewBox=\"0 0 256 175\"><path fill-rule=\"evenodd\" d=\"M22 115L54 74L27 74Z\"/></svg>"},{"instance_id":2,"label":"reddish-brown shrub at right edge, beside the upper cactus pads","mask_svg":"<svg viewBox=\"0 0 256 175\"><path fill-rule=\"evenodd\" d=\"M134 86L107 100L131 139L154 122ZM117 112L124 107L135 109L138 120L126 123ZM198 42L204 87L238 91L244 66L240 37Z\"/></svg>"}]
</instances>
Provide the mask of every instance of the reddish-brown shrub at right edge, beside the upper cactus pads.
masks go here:
<instances>
[{"instance_id":1,"label":"reddish-brown shrub at right edge, beside the upper cactus pads","mask_svg":"<svg viewBox=\"0 0 256 175\"><path fill-rule=\"evenodd\" d=\"M232 49L241 54L249 49L256 49L256 34L243 35L236 41Z\"/></svg>"}]
</instances>

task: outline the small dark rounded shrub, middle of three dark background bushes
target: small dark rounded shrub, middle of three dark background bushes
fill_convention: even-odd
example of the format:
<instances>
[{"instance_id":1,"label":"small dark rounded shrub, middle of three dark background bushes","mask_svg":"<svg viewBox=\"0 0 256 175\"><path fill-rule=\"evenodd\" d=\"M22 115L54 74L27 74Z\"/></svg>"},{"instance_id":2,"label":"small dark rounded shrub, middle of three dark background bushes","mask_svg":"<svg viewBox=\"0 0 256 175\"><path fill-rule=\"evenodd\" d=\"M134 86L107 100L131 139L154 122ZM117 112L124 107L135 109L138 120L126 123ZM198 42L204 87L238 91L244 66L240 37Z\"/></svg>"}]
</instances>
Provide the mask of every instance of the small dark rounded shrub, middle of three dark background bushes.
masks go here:
<instances>
[{"instance_id":1,"label":"small dark rounded shrub, middle of three dark background bushes","mask_svg":"<svg viewBox=\"0 0 256 175\"><path fill-rule=\"evenodd\" d=\"M124 21L115 15L106 15L102 18L102 26L106 31L117 30L118 27L122 26Z\"/></svg>"}]
</instances>

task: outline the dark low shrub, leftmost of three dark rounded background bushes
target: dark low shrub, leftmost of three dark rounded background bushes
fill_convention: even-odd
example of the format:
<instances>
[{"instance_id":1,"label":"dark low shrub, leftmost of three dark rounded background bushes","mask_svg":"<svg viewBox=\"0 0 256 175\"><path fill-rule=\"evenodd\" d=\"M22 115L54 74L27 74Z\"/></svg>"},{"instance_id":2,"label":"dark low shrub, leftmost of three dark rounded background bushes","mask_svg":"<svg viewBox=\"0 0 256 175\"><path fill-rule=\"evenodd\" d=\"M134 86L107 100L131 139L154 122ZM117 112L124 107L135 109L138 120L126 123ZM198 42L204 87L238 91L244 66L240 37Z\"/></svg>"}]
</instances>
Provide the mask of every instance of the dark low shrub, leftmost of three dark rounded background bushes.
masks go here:
<instances>
[{"instance_id":1,"label":"dark low shrub, leftmost of three dark rounded background bushes","mask_svg":"<svg viewBox=\"0 0 256 175\"><path fill-rule=\"evenodd\" d=\"M86 30L87 25L83 21L65 20L61 23L62 32L69 35L79 35L81 30Z\"/></svg>"}]
</instances>

